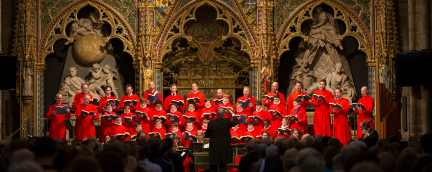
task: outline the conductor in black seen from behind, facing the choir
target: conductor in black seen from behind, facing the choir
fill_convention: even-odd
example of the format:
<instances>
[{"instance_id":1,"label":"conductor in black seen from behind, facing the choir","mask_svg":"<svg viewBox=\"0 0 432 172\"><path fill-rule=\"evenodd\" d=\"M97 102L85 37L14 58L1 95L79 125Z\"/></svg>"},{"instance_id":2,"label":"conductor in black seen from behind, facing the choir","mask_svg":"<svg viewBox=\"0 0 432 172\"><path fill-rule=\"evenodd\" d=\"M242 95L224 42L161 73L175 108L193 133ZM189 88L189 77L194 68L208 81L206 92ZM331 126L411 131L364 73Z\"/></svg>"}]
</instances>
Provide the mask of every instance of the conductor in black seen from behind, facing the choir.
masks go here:
<instances>
[{"instance_id":1,"label":"conductor in black seen from behind, facing the choir","mask_svg":"<svg viewBox=\"0 0 432 172\"><path fill-rule=\"evenodd\" d=\"M238 124L238 120L224 118L224 109L218 109L218 118L208 123L205 138L210 138L208 158L210 160L210 171L225 172L227 164L233 161L233 148L231 147L230 128Z\"/></svg>"}]
</instances>

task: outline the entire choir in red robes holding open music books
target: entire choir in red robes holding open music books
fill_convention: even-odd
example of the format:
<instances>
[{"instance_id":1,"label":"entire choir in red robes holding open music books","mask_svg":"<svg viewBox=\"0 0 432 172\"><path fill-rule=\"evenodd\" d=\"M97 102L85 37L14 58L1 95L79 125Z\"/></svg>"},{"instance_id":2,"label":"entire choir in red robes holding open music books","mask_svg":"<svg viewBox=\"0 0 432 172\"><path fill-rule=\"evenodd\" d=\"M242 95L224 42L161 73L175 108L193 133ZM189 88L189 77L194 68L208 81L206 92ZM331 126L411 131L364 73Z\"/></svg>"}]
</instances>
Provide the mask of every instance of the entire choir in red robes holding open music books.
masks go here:
<instances>
[{"instance_id":1,"label":"entire choir in red robes holding open music books","mask_svg":"<svg viewBox=\"0 0 432 172\"><path fill-rule=\"evenodd\" d=\"M308 117L306 107L315 106L314 135L337 138L344 145L351 140L348 124L348 111L353 109L359 115L358 121L370 120L373 110L373 99L367 94L367 87L361 88L363 98L356 106L350 106L348 99L342 97L343 90L336 89L333 93L325 90L326 81L320 81L320 89L314 91L313 96L302 92L302 83L295 83L295 91L289 94L287 102L285 96L278 92L278 84L273 83L272 92L266 94L263 102L250 97L250 88L244 87L243 96L237 98L235 107L230 102L230 95L217 90L217 98L211 100L198 92L198 84L192 83L192 92L187 100L177 94L177 86L170 88L171 94L162 100L162 96L155 90L153 82L149 83L149 90L141 98L133 94L132 85L126 85L126 95L118 100L111 95L111 86L104 88L106 96L99 100L98 109L90 103L92 96L87 93L88 86L81 86L82 92L75 95L73 108L76 116L76 138L79 140L95 136L94 120L102 114L99 130L99 142L110 139L121 142L136 140L144 135L149 138L172 138L176 146L189 146L197 142L197 131L206 132L208 122L217 118L219 108L225 110L225 118L237 118L239 124L230 129L232 143L246 143L252 139L261 140L276 137L295 138L300 140L302 135L308 134ZM312 97L312 98L311 98ZM62 95L57 94L55 104L51 105L47 118L51 120L49 136L54 139L65 138L65 118L72 115L68 107L61 104ZM267 111L263 110L267 107ZM62 109L63 108L63 109ZM123 110L117 115L118 110ZM182 115L183 111L187 111ZM61 111L61 112L57 112ZM59 114L63 113L63 114ZM330 129L330 114L334 115L333 132ZM360 126L360 125L358 125ZM371 124L373 129L373 123ZM359 137L361 136L358 128ZM103 137L103 138L102 138Z\"/></svg>"}]
</instances>

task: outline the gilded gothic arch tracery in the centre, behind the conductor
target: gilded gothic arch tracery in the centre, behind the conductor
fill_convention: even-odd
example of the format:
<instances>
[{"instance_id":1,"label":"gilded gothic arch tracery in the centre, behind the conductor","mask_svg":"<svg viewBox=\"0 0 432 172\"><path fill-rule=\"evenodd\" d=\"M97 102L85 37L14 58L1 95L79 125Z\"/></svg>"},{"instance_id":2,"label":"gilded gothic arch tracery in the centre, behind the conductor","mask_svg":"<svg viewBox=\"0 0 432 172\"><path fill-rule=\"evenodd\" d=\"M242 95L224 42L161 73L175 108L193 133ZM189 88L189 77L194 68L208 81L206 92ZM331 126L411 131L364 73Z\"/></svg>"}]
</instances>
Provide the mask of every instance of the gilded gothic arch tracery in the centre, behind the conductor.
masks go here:
<instances>
[{"instance_id":1,"label":"gilded gothic arch tracery in the centre, behind the conductor","mask_svg":"<svg viewBox=\"0 0 432 172\"><path fill-rule=\"evenodd\" d=\"M208 5L213 7L217 12L216 21L221 20L228 24L229 29L226 35L222 35L219 40L213 41L213 43L207 48L207 50L211 50L214 46L217 45L216 42L220 40L226 40L227 38L233 37L241 42L241 50L249 56L249 61L252 61L253 57L255 57L256 46L252 36L252 33L248 29L247 25L241 20L239 16L236 15L236 12L231 8L226 7L224 4L218 1L209 1L209 0L200 0L195 1L191 4L186 5L181 11L178 11L172 18L169 19L167 25L165 25L165 29L160 33L157 39L157 46L155 57L157 61L162 61L162 58L165 54L172 52L172 42L177 38L183 37L188 39L189 42L194 42L190 36L186 34L186 30L184 26L187 22L196 20L196 10L204 5ZM196 44L196 42L194 42ZM204 50L202 46L199 44L197 47L200 47L200 51ZM214 57L214 55L209 54L208 52L205 55L209 56L209 58Z\"/></svg>"}]
</instances>

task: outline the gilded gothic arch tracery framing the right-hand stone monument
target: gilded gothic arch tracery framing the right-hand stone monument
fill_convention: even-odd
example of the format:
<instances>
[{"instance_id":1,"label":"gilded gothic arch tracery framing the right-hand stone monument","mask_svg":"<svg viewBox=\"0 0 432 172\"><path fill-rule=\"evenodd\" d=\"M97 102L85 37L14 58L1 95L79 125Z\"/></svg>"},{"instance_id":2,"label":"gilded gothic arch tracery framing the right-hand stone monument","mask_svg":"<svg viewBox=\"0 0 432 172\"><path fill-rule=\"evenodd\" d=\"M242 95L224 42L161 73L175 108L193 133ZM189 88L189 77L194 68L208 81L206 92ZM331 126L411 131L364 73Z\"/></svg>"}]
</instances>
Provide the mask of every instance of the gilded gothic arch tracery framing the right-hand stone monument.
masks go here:
<instances>
[{"instance_id":1,"label":"gilded gothic arch tracery framing the right-hand stone monument","mask_svg":"<svg viewBox=\"0 0 432 172\"><path fill-rule=\"evenodd\" d=\"M299 7L292 13L293 15L290 15L276 37L278 59L284 52L289 51L289 42L292 38L302 37L307 41L308 37L301 32L301 26L306 20L313 20L314 8L323 3L333 8L335 11L334 19L342 20L346 25L345 33L339 36L339 40L347 36L353 36L358 41L358 50L365 52L367 60L372 60L372 42L366 25L350 8L333 0L311 1Z\"/></svg>"}]
</instances>

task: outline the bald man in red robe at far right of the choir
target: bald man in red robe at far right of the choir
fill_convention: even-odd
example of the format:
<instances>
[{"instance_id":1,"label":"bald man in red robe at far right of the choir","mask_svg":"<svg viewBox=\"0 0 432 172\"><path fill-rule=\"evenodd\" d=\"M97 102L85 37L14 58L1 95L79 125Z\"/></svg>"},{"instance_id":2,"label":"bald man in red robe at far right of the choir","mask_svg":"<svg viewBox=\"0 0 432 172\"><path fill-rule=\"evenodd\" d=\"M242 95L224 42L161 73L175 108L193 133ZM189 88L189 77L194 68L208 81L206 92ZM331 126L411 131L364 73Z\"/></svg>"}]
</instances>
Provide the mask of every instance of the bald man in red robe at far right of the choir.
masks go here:
<instances>
[{"instance_id":1,"label":"bald man in red robe at far right of the choir","mask_svg":"<svg viewBox=\"0 0 432 172\"><path fill-rule=\"evenodd\" d=\"M358 106L357 106L357 110L353 108L354 114L358 115L357 138L360 138L362 133L362 131L360 130L360 122L364 120L369 121L373 118L372 112L374 108L374 100L372 97L369 97L369 95L367 94L368 94L367 87L366 86L361 87L361 96L363 96L363 98L359 99L357 103L361 103L365 107L365 109ZM370 128L375 130L374 122L370 123Z\"/></svg>"}]
</instances>

